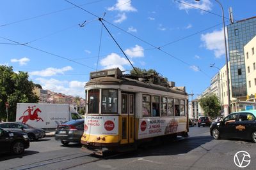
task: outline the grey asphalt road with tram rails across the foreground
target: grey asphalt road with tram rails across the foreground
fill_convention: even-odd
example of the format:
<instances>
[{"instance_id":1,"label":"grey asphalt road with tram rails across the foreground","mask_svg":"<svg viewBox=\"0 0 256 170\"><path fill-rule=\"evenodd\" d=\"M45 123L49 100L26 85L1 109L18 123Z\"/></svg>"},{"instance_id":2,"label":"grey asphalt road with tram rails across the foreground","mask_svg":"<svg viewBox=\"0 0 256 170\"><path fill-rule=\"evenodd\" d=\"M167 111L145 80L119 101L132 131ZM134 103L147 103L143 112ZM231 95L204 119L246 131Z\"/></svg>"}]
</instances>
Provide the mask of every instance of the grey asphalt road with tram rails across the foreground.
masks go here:
<instances>
[{"instance_id":1,"label":"grey asphalt road with tram rails across the foreground","mask_svg":"<svg viewBox=\"0 0 256 170\"><path fill-rule=\"evenodd\" d=\"M0 169L241 169L234 164L234 155L242 150L250 154L250 158L244 157L250 160L244 169L255 169L255 146L251 141L214 140L209 127L191 127L189 138L98 157L81 150L80 145L66 147L51 137L31 142L19 157L0 155ZM242 160L243 155L237 158Z\"/></svg>"}]
</instances>

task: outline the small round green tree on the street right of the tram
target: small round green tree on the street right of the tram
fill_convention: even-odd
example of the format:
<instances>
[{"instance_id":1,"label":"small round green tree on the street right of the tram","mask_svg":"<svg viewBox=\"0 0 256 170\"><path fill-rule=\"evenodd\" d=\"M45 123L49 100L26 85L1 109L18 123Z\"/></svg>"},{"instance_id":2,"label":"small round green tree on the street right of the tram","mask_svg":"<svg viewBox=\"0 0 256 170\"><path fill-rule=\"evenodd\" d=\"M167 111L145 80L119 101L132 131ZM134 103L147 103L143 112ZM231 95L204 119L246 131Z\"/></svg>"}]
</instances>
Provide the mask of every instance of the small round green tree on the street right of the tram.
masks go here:
<instances>
[{"instance_id":1,"label":"small round green tree on the street right of the tram","mask_svg":"<svg viewBox=\"0 0 256 170\"><path fill-rule=\"evenodd\" d=\"M199 99L199 104L204 110L205 116L218 117L220 116L221 104L215 94L210 94Z\"/></svg>"}]
</instances>

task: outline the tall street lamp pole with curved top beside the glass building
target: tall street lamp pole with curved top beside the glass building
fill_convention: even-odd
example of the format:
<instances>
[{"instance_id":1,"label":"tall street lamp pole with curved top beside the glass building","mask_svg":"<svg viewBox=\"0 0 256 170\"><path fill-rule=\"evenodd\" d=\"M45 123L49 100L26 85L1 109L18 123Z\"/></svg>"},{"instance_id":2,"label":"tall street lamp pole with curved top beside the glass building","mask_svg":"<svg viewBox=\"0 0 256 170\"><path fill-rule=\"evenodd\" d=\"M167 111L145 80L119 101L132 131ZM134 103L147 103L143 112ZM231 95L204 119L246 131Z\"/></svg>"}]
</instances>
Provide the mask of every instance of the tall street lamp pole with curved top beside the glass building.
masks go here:
<instances>
[{"instance_id":1,"label":"tall street lamp pole with curved top beside the glass building","mask_svg":"<svg viewBox=\"0 0 256 170\"><path fill-rule=\"evenodd\" d=\"M200 1L200 0L195 0ZM223 32L224 32L224 41L225 41L225 55L226 55L226 69L227 69L227 97L228 97L228 114L230 113L230 88L229 88L229 74L228 74L228 53L227 53L227 41L226 41L226 31L225 31L225 20L224 20L224 10L220 3L220 1L215 0L218 4L220 4L222 11L222 22L223 22Z\"/></svg>"}]
</instances>

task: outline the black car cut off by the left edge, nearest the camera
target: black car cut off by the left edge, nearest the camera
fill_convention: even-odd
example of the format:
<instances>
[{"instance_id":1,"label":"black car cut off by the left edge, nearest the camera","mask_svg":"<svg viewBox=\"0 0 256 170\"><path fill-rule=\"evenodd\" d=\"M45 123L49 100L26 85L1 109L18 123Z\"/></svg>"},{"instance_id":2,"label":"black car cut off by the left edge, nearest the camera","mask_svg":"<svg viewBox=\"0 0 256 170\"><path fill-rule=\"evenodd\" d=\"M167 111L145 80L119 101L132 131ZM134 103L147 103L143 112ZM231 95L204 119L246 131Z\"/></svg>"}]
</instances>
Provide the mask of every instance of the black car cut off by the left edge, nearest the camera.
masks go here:
<instances>
[{"instance_id":1,"label":"black car cut off by the left edge, nearest the camera","mask_svg":"<svg viewBox=\"0 0 256 170\"><path fill-rule=\"evenodd\" d=\"M29 148L29 138L24 132L8 132L0 128L0 153L21 154Z\"/></svg>"}]
</instances>

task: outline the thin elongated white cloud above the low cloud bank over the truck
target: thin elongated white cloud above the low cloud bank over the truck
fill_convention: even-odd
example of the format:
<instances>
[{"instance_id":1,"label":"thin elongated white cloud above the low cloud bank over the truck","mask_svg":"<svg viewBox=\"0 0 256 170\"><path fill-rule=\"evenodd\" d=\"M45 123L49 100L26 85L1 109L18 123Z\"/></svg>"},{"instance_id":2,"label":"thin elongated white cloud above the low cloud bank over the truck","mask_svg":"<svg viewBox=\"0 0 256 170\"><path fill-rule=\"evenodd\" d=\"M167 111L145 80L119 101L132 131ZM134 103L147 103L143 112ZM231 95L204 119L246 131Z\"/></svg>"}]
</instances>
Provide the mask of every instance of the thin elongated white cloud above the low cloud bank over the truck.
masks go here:
<instances>
[{"instance_id":1,"label":"thin elongated white cloud above the low cloud bank over the truck","mask_svg":"<svg viewBox=\"0 0 256 170\"><path fill-rule=\"evenodd\" d=\"M65 71L70 71L72 70L73 68L70 67L70 66L67 66L67 67L62 67L60 69L57 69L57 68L53 68L53 67L49 67L47 69L43 69L41 71L32 71L29 73L29 75L31 76L54 76L56 74L64 74Z\"/></svg>"}]
</instances>

